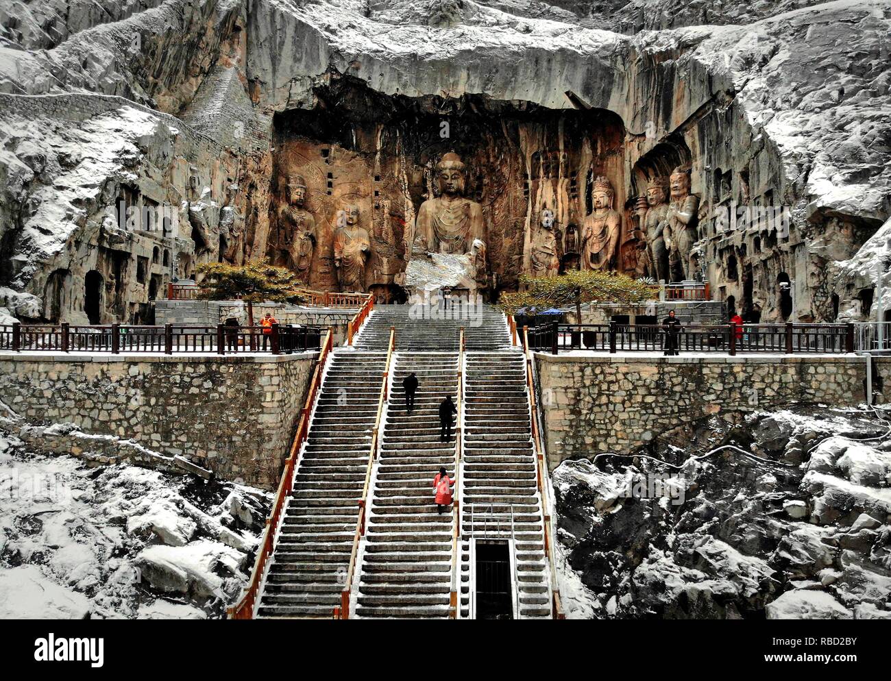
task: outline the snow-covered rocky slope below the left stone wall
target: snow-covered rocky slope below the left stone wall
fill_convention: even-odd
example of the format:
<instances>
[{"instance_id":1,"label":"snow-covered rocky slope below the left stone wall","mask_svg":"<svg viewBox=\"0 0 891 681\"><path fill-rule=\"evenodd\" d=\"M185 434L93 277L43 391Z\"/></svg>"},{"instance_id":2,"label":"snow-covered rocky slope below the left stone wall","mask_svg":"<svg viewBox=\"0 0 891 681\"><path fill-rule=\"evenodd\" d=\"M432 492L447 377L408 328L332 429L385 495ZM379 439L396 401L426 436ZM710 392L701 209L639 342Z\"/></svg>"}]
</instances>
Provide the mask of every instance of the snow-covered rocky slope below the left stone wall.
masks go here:
<instances>
[{"instance_id":1,"label":"snow-covered rocky slope below the left stone wall","mask_svg":"<svg viewBox=\"0 0 891 681\"><path fill-rule=\"evenodd\" d=\"M269 503L232 483L31 454L0 433L0 610L12 580L28 579L47 596L11 604L17 616L219 617L248 579Z\"/></svg>"}]
</instances>

